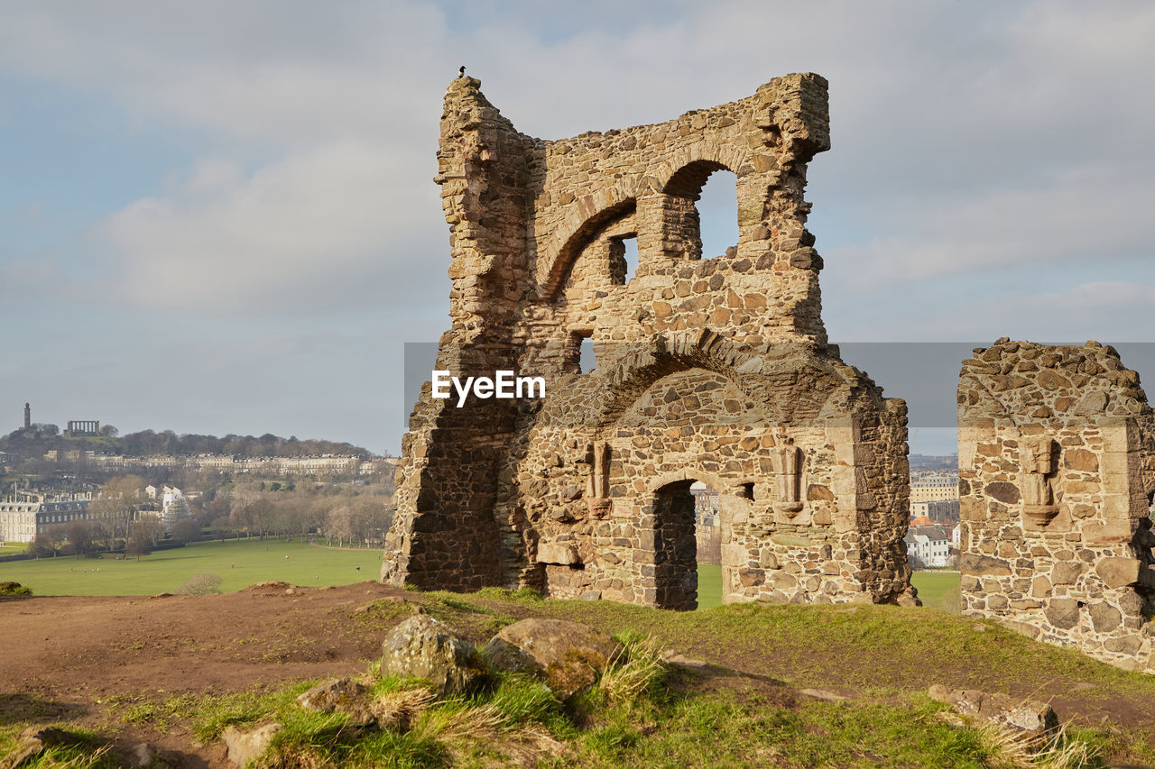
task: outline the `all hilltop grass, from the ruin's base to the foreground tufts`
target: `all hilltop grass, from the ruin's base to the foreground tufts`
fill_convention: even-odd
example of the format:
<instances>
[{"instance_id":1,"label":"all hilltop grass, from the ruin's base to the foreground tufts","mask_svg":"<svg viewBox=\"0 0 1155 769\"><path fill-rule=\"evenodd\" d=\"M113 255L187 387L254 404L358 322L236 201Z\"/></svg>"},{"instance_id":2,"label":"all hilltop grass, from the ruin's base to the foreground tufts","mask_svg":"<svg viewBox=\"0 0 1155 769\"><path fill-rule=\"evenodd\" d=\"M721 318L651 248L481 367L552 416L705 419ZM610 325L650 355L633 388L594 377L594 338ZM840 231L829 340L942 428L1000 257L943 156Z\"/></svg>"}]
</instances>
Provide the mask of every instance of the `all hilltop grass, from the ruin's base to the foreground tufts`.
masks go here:
<instances>
[{"instance_id":1,"label":"all hilltop grass, from the ruin's base to the foreground tufts","mask_svg":"<svg viewBox=\"0 0 1155 769\"><path fill-rule=\"evenodd\" d=\"M297 695L312 681L271 693L106 702L117 719L162 733L179 729L202 745L218 744L231 725L276 721L284 730L259 766L1058 769L1155 763L1155 736L1148 730L1068 725L1040 756L1033 753L1040 746L947 718L945 707L924 694L930 682L1009 690L1026 681L1063 690L1078 680L1088 685L1081 696L1089 701L1149 702L1155 677L931 609L739 604L671 612L543 600L528 590L495 588L472 595L413 591L413 599L450 626L477 625L486 634L490 624L527 609L583 621L617 632L626 654L566 702L529 677L501 672L471 696L438 700L422 682L382 677L374 664L362 679L379 722L368 727L297 707ZM660 656L668 648L688 656L696 650L735 670L671 667ZM806 687L835 687L852 699L814 700L797 692Z\"/></svg>"}]
</instances>

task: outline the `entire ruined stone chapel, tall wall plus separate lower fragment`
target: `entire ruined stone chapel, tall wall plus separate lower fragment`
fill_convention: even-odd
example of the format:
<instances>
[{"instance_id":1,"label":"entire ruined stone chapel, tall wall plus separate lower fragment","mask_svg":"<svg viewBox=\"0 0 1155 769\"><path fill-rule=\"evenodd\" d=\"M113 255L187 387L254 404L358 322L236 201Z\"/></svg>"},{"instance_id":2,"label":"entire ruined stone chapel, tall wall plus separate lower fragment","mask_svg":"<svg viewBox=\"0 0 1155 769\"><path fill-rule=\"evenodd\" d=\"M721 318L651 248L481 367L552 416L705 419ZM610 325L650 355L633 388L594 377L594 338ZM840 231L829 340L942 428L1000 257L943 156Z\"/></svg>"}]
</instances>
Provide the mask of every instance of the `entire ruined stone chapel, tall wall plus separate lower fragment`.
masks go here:
<instances>
[{"instance_id":1,"label":"entire ruined stone chapel, tall wall plus separate lower fragment","mask_svg":"<svg viewBox=\"0 0 1155 769\"><path fill-rule=\"evenodd\" d=\"M812 74L561 141L455 80L437 368L542 376L546 396L457 408L425 384L382 578L693 609L700 480L720 499L723 600L916 603L906 404L840 359L820 315L803 191L828 147ZM723 169L738 242L703 259L695 201ZM1155 417L1113 349L975 350L959 475L964 614L1155 670Z\"/></svg>"}]
</instances>

